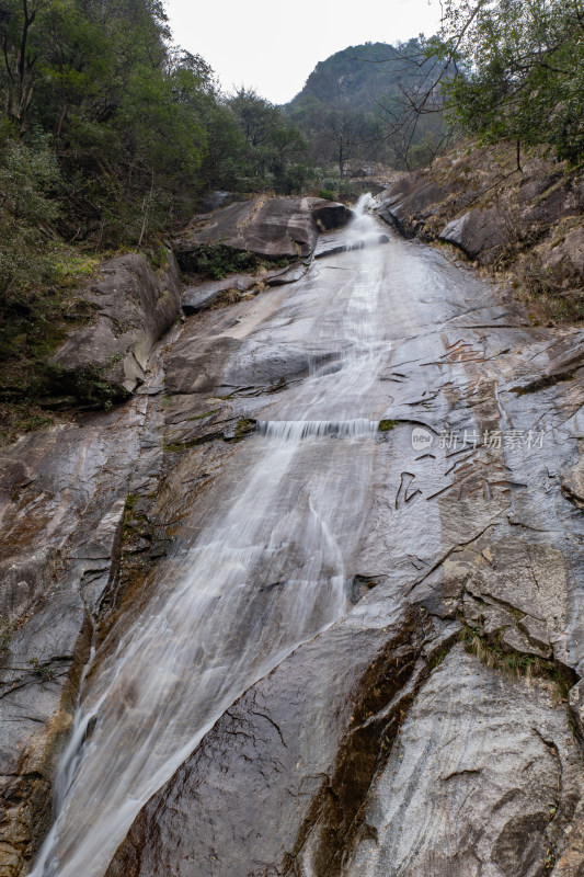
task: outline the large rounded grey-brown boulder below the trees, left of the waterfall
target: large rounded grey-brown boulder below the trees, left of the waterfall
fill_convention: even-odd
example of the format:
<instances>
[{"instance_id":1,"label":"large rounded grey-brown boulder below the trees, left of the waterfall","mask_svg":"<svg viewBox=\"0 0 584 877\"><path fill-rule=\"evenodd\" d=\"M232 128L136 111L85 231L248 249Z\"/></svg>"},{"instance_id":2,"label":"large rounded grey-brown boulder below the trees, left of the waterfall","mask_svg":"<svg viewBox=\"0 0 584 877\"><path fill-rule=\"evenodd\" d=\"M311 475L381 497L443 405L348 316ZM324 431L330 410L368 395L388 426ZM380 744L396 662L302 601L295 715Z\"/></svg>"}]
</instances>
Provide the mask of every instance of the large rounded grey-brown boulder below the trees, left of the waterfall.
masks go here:
<instances>
[{"instance_id":1,"label":"large rounded grey-brown boulder below the trees, left of the waterfall","mask_svg":"<svg viewBox=\"0 0 584 877\"><path fill-rule=\"evenodd\" d=\"M81 399L124 398L144 380L153 345L180 312L174 259L168 251L158 273L136 253L112 259L83 298L96 319L72 331L51 357L56 380Z\"/></svg>"}]
</instances>

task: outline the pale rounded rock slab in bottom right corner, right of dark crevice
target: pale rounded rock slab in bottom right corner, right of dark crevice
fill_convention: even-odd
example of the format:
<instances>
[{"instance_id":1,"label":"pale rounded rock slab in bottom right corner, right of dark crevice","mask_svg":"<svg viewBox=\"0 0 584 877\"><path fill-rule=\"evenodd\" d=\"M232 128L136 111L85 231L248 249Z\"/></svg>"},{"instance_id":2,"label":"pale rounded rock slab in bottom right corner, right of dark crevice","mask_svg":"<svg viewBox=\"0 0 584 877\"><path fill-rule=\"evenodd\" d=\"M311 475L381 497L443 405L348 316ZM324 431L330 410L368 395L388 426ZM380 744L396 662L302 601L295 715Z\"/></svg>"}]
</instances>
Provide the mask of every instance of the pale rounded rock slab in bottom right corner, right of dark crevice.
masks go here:
<instances>
[{"instance_id":1,"label":"pale rounded rock slab in bottom right corner, right of dark crevice","mask_svg":"<svg viewBox=\"0 0 584 877\"><path fill-rule=\"evenodd\" d=\"M341 873L541 875L582 790L553 693L493 673L459 646L409 713Z\"/></svg>"}]
</instances>

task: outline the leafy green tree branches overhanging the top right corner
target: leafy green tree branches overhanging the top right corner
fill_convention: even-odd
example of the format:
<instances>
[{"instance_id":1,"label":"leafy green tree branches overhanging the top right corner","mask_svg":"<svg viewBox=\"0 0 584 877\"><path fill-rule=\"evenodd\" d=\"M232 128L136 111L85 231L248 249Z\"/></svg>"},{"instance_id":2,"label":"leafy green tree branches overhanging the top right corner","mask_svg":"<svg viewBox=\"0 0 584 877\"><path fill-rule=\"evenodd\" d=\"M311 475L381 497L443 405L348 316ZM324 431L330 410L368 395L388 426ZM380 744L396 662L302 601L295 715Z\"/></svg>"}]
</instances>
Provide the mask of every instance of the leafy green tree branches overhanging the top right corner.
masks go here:
<instances>
[{"instance_id":1,"label":"leafy green tree branches overhanging the top right corner","mask_svg":"<svg viewBox=\"0 0 584 877\"><path fill-rule=\"evenodd\" d=\"M444 82L451 119L486 141L545 145L584 157L582 0L447 0L428 52L453 61Z\"/></svg>"}]
</instances>

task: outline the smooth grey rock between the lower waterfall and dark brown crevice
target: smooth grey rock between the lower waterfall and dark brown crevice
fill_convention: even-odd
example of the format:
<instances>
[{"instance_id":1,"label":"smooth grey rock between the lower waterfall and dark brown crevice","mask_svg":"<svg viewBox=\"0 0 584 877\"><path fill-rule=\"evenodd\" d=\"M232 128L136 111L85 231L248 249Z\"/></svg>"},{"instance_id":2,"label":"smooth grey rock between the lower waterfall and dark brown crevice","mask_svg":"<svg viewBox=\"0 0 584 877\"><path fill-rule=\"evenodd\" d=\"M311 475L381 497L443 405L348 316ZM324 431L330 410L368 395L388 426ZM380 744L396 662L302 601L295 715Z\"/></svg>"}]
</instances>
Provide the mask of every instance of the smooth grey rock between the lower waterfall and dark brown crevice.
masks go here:
<instances>
[{"instance_id":1,"label":"smooth grey rock between the lower waterfall and dark brown crevice","mask_svg":"<svg viewBox=\"0 0 584 877\"><path fill-rule=\"evenodd\" d=\"M342 836L381 733L365 717L412 675L420 647L415 623L383 631L363 622L307 645L234 704L142 810L107 877L294 873L319 809L323 829Z\"/></svg>"}]
</instances>

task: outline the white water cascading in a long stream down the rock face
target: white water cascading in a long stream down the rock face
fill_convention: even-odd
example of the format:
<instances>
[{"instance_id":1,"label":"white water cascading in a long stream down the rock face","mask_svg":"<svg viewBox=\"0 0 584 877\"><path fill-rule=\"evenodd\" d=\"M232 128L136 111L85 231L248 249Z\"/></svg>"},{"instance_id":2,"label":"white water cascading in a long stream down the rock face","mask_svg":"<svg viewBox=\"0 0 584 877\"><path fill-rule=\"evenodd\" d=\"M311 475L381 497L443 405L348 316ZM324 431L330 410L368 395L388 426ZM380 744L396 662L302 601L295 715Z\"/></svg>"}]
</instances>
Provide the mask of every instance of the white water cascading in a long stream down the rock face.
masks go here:
<instances>
[{"instance_id":1,"label":"white water cascading in a long stream down the rock face","mask_svg":"<svg viewBox=\"0 0 584 877\"><path fill-rule=\"evenodd\" d=\"M370 203L356 205L347 249L378 237ZM333 352L334 367L314 355L309 376L273 397L238 448L243 477L227 479L192 547L94 657L34 877L102 877L140 807L218 716L347 610L381 413L379 399L367 410L367 389L388 341L379 251L343 258L325 318L302 315L307 346Z\"/></svg>"}]
</instances>

